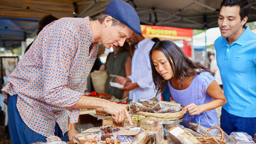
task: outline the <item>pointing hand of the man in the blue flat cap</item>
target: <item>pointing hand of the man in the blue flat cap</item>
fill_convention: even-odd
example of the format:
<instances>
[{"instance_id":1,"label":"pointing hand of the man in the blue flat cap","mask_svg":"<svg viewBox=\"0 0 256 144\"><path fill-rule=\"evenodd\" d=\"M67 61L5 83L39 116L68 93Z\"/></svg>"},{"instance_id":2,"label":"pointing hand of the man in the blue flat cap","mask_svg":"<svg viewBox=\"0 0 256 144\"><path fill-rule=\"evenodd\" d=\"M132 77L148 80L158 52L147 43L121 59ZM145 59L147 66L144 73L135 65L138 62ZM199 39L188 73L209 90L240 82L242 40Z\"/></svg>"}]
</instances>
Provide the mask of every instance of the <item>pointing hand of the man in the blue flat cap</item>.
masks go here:
<instances>
[{"instance_id":1,"label":"pointing hand of the man in the blue flat cap","mask_svg":"<svg viewBox=\"0 0 256 144\"><path fill-rule=\"evenodd\" d=\"M130 125L132 124L132 120L130 117L129 112L126 110L126 108L120 104L114 103L114 102L109 102L103 110L113 117L113 119L122 121L124 119L128 119Z\"/></svg>"}]
</instances>

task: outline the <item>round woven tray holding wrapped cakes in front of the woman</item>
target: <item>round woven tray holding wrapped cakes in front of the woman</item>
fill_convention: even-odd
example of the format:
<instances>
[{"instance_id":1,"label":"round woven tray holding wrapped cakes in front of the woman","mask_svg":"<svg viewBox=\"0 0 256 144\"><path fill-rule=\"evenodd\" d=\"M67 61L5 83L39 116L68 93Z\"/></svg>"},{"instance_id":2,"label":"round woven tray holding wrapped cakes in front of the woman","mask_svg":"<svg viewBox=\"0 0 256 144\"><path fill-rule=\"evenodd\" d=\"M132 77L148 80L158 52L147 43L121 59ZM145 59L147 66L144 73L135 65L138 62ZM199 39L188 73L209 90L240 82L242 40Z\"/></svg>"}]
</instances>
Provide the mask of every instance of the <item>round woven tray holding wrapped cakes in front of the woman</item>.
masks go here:
<instances>
[{"instance_id":1,"label":"round woven tray holding wrapped cakes in front of the woman","mask_svg":"<svg viewBox=\"0 0 256 144\"><path fill-rule=\"evenodd\" d=\"M134 111L134 114L143 115L145 117L152 116L159 119L160 122L164 121L172 121L172 120L179 120L184 117L186 111L179 111L174 113L148 113L148 112L138 112Z\"/></svg>"}]
</instances>

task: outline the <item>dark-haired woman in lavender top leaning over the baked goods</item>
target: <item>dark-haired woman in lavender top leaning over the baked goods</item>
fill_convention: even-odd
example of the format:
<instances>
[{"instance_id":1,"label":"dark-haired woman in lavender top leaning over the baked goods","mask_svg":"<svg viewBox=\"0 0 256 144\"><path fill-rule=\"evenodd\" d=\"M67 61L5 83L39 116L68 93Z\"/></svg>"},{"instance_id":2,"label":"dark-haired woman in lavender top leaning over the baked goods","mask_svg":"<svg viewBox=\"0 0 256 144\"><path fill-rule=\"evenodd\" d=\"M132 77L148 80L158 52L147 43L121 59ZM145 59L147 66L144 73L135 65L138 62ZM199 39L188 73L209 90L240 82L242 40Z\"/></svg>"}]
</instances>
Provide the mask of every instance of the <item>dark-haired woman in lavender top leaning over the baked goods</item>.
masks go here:
<instances>
[{"instance_id":1,"label":"dark-haired woman in lavender top leaning over the baked goods","mask_svg":"<svg viewBox=\"0 0 256 144\"><path fill-rule=\"evenodd\" d=\"M191 61L172 41L155 43L150 62L157 94L168 85L173 100L187 111L182 125L218 126L215 108L226 104L226 98L208 69Z\"/></svg>"}]
</instances>

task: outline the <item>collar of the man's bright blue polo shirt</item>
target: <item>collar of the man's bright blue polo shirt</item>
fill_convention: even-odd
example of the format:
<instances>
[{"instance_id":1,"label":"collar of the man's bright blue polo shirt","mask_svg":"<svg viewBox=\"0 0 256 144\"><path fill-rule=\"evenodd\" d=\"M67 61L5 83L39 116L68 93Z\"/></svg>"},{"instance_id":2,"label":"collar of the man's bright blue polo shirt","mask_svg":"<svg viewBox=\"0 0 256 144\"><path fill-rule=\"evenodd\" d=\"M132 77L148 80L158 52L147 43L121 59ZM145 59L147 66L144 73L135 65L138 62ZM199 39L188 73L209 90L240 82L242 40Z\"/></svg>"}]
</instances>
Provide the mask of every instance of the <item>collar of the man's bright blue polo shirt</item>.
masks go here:
<instances>
[{"instance_id":1,"label":"collar of the man's bright blue polo shirt","mask_svg":"<svg viewBox=\"0 0 256 144\"><path fill-rule=\"evenodd\" d=\"M244 30L244 32L240 35L240 37L234 42L237 43L241 46L243 46L245 44L245 42L248 40L248 38L250 37L249 35L251 34L251 29L249 28L249 26L245 25L246 29ZM223 38L222 39L222 43L224 43L225 45L229 45L227 38Z\"/></svg>"}]
</instances>

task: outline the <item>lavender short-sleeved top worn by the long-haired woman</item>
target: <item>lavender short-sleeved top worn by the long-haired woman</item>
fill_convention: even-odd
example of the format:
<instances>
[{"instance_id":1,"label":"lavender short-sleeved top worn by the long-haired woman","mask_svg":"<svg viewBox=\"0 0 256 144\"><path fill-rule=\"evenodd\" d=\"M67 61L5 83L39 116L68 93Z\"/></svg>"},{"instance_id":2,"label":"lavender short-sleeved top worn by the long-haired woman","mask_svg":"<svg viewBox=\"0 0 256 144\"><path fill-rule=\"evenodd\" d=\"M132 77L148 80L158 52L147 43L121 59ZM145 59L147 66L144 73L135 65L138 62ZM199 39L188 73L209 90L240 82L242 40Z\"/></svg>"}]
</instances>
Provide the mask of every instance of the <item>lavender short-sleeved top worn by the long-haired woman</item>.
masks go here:
<instances>
[{"instance_id":1,"label":"lavender short-sleeved top worn by the long-haired woman","mask_svg":"<svg viewBox=\"0 0 256 144\"><path fill-rule=\"evenodd\" d=\"M195 75L193 81L188 88L184 90L176 90L168 81L168 86L170 88L171 96L176 103L180 103L181 106L185 107L190 103L195 103L196 105L208 103L213 100L213 98L206 92L208 86L215 80L214 76L209 72L202 72ZM189 122L197 123L207 129L218 126L218 117L216 110L210 110L202 112L199 115L189 115L189 112L185 114L185 120L180 124L189 128ZM215 130L213 130L215 132Z\"/></svg>"}]
</instances>

